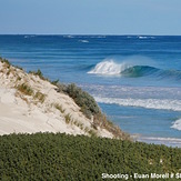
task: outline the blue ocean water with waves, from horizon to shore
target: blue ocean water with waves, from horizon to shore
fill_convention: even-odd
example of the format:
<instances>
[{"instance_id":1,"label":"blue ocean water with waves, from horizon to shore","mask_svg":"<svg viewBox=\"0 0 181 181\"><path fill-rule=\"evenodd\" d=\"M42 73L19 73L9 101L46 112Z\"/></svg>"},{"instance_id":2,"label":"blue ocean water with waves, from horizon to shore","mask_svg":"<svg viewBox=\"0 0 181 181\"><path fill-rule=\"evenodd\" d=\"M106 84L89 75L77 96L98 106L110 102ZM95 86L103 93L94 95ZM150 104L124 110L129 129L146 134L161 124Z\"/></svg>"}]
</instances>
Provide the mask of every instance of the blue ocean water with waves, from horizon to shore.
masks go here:
<instances>
[{"instance_id":1,"label":"blue ocean water with waves, from horizon to shore","mask_svg":"<svg viewBox=\"0 0 181 181\"><path fill-rule=\"evenodd\" d=\"M78 83L138 140L181 147L181 37L0 36L0 56Z\"/></svg>"}]
</instances>

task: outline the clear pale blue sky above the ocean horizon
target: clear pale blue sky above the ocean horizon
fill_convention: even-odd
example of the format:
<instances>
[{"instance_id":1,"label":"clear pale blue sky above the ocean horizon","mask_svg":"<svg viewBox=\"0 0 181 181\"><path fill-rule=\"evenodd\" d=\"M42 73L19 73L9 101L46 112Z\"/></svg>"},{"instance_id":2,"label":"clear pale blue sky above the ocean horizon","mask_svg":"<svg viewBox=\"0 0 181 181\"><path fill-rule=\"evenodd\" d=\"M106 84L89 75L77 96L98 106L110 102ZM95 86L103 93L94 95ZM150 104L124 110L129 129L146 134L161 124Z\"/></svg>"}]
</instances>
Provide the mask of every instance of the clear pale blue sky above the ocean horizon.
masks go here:
<instances>
[{"instance_id":1,"label":"clear pale blue sky above the ocean horizon","mask_svg":"<svg viewBox=\"0 0 181 181\"><path fill-rule=\"evenodd\" d=\"M181 36L181 0L0 0L0 34Z\"/></svg>"}]
</instances>

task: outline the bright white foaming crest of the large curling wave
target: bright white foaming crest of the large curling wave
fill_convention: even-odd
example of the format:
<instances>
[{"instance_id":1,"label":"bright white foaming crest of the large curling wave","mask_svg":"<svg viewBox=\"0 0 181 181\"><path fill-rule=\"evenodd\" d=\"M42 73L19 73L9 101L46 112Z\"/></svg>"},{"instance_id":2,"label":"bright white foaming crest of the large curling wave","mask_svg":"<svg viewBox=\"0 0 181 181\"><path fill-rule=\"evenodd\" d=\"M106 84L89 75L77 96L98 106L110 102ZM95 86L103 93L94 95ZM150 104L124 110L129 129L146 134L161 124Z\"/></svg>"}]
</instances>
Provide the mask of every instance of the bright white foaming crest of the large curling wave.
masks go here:
<instances>
[{"instance_id":1,"label":"bright white foaming crest of the large curling wave","mask_svg":"<svg viewBox=\"0 0 181 181\"><path fill-rule=\"evenodd\" d=\"M113 60L105 60L98 63L93 70L89 71L88 73L94 74L120 74L124 69L129 68L128 64L115 63Z\"/></svg>"}]
</instances>

